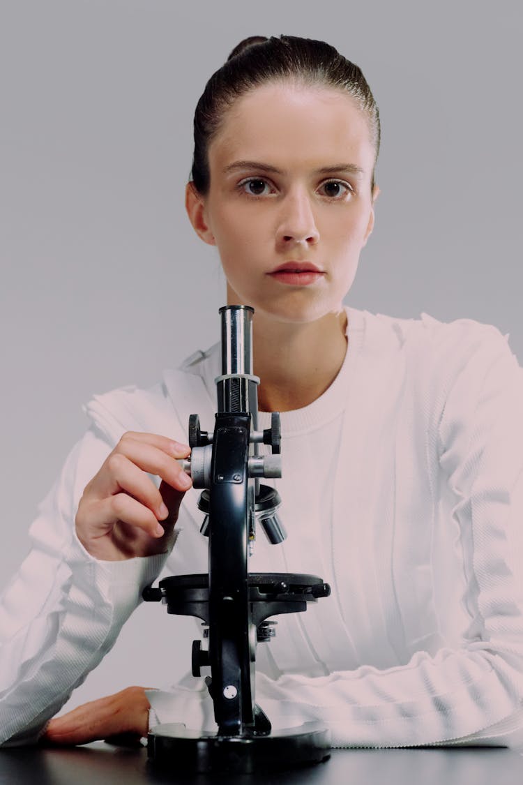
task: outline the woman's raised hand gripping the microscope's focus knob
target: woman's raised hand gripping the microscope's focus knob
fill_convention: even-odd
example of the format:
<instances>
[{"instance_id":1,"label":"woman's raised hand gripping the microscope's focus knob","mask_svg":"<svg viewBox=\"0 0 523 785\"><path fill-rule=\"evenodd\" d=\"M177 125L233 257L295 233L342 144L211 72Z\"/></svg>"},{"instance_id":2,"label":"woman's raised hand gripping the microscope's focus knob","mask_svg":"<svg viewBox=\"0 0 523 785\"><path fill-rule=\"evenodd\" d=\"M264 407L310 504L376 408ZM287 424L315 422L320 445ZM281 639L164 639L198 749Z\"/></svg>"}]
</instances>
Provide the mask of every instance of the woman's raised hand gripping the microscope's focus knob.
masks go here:
<instances>
[{"instance_id":1,"label":"woman's raised hand gripping the microscope's focus knob","mask_svg":"<svg viewBox=\"0 0 523 785\"><path fill-rule=\"evenodd\" d=\"M169 550L191 487L177 459L190 454L191 447L167 436L124 433L78 504L76 533L85 550L107 561ZM162 478L159 489L148 473Z\"/></svg>"}]
</instances>

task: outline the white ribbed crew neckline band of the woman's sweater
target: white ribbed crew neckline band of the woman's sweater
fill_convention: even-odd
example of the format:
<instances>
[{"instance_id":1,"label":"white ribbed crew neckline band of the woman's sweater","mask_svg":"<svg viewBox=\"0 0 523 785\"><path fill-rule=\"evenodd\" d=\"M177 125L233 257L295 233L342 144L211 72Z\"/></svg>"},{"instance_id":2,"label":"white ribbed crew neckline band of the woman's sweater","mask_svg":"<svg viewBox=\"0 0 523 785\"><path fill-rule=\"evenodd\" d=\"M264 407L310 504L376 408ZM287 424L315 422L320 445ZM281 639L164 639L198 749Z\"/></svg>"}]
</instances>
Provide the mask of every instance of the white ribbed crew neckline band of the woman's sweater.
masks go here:
<instances>
[{"instance_id":1,"label":"white ribbed crew neckline band of the woman's sweater","mask_svg":"<svg viewBox=\"0 0 523 785\"><path fill-rule=\"evenodd\" d=\"M347 313L347 351L340 371L332 384L312 403L300 409L280 413L281 433L301 436L323 428L342 414L347 407L347 392L354 376L354 367L365 341L365 313L345 306ZM258 412L258 427L268 428L271 412Z\"/></svg>"}]
</instances>

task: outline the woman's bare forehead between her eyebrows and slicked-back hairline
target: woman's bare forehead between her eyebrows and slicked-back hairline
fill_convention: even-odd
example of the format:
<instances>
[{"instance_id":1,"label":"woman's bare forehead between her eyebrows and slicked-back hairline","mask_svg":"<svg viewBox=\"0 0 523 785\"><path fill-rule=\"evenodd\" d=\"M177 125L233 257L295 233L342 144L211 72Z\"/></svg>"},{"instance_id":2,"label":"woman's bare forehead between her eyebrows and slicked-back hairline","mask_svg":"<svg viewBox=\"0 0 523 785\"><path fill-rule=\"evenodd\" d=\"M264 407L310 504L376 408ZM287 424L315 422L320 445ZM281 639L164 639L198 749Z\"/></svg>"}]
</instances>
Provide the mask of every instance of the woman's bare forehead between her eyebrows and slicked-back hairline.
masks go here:
<instances>
[{"instance_id":1,"label":"woman's bare forehead between her eyebrows and slicked-back hairline","mask_svg":"<svg viewBox=\"0 0 523 785\"><path fill-rule=\"evenodd\" d=\"M234 160L289 170L345 161L372 172L369 125L355 101L321 86L267 84L238 98L209 145L211 170Z\"/></svg>"}]
</instances>

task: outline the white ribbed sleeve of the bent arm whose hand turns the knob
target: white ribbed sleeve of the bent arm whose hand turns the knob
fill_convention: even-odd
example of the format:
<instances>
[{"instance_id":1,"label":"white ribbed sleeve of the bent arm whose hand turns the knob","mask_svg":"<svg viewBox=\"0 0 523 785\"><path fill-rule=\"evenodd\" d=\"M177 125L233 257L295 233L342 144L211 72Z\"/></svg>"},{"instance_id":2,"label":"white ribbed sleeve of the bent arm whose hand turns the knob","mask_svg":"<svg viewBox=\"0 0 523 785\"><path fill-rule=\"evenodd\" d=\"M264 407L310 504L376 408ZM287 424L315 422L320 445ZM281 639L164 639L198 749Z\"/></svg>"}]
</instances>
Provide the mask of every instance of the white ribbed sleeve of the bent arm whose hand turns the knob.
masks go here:
<instances>
[{"instance_id":1,"label":"white ribbed sleeve of the bent arm whose hand turns the knob","mask_svg":"<svg viewBox=\"0 0 523 785\"><path fill-rule=\"evenodd\" d=\"M96 560L74 533L83 487L112 447L85 434L31 526L0 603L0 743L32 743L111 649L166 555Z\"/></svg>"}]
</instances>

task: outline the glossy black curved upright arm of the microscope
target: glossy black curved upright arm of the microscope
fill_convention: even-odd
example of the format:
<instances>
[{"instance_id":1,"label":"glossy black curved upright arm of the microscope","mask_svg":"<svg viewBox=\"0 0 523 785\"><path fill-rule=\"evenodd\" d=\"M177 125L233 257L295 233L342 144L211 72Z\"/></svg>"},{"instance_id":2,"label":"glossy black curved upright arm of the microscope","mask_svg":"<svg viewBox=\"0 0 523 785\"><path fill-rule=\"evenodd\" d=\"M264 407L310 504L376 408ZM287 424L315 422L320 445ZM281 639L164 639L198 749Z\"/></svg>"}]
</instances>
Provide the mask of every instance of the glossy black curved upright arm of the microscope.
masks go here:
<instances>
[{"instance_id":1,"label":"glossy black curved upright arm of the microscope","mask_svg":"<svg viewBox=\"0 0 523 785\"><path fill-rule=\"evenodd\" d=\"M254 722L256 627L249 607L250 414L219 413L209 486L210 692L219 733L235 736Z\"/></svg>"}]
</instances>

